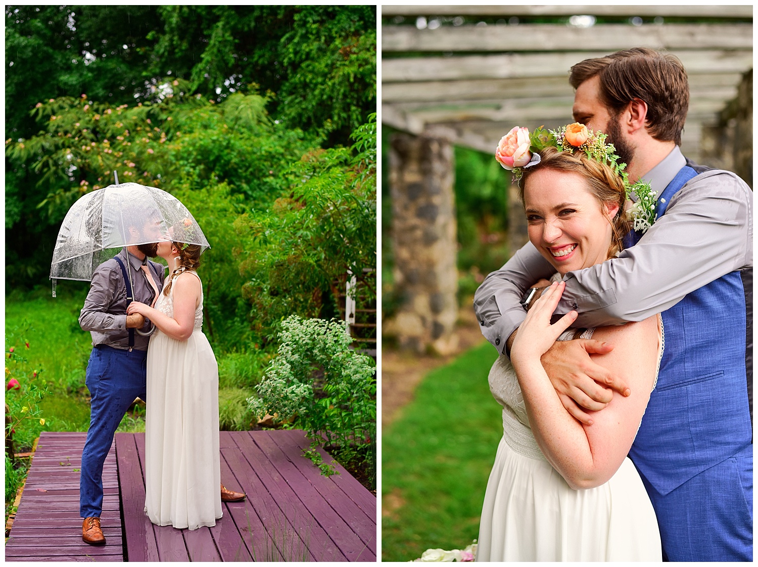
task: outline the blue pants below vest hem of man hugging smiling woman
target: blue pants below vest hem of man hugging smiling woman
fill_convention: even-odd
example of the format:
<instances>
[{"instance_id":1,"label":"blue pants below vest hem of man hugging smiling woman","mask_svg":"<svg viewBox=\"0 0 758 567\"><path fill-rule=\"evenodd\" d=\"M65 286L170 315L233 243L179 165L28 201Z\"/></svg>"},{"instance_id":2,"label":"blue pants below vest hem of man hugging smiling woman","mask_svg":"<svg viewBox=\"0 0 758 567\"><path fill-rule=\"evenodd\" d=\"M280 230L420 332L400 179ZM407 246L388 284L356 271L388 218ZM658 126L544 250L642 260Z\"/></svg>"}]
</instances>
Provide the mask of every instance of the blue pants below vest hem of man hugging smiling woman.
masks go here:
<instances>
[{"instance_id":1,"label":"blue pants below vest hem of man hugging smiling woman","mask_svg":"<svg viewBox=\"0 0 758 567\"><path fill-rule=\"evenodd\" d=\"M752 444L665 496L642 480L658 516L664 561L753 561Z\"/></svg>"}]
</instances>

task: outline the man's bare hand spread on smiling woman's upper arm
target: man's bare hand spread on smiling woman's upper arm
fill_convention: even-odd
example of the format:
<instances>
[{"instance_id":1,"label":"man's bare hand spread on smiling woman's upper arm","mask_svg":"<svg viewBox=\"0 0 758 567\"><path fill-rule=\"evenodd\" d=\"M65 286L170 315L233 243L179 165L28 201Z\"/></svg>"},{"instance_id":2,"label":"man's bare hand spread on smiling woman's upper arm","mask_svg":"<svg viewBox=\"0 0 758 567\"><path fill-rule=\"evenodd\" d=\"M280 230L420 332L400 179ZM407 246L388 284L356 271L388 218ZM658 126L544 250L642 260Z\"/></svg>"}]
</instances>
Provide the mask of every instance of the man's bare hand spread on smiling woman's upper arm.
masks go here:
<instances>
[{"instance_id":1,"label":"man's bare hand spread on smiling woman's upper arm","mask_svg":"<svg viewBox=\"0 0 758 567\"><path fill-rule=\"evenodd\" d=\"M631 394L622 380L590 358L590 354L606 354L612 350L613 345L606 342L574 339L556 341L540 358L563 407L585 425L592 425L592 418L584 409L605 408L613 398L612 390L621 395Z\"/></svg>"}]
</instances>

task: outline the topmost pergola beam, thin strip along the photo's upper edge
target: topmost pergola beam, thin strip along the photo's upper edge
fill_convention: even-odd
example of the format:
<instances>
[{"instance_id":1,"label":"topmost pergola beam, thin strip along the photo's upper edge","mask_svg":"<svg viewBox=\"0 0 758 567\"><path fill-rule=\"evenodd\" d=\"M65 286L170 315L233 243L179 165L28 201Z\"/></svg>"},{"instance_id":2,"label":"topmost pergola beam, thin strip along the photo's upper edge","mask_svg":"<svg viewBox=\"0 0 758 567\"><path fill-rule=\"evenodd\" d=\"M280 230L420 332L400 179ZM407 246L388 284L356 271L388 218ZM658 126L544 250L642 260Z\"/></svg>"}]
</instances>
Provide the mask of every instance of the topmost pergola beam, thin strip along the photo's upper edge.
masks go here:
<instances>
[{"instance_id":1,"label":"topmost pergola beam, thin strip along the photo's upper edge","mask_svg":"<svg viewBox=\"0 0 758 567\"><path fill-rule=\"evenodd\" d=\"M753 17L752 5L382 5L386 16Z\"/></svg>"}]
</instances>

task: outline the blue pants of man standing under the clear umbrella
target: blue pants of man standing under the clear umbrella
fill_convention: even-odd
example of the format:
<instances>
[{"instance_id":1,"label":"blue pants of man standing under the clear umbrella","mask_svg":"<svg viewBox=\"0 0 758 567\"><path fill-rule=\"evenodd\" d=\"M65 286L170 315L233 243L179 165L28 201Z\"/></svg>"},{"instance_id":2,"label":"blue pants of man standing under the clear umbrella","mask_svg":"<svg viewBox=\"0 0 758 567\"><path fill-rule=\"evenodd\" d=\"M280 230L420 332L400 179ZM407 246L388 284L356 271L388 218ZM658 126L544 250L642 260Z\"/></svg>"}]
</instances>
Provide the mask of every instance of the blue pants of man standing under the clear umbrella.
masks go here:
<instances>
[{"instance_id":1,"label":"blue pants of man standing under the clear umbrella","mask_svg":"<svg viewBox=\"0 0 758 567\"><path fill-rule=\"evenodd\" d=\"M113 436L134 398L146 398L147 351L107 346L92 348L86 386L92 397L89 430L82 452L79 512L82 518L102 512L102 465Z\"/></svg>"}]
</instances>

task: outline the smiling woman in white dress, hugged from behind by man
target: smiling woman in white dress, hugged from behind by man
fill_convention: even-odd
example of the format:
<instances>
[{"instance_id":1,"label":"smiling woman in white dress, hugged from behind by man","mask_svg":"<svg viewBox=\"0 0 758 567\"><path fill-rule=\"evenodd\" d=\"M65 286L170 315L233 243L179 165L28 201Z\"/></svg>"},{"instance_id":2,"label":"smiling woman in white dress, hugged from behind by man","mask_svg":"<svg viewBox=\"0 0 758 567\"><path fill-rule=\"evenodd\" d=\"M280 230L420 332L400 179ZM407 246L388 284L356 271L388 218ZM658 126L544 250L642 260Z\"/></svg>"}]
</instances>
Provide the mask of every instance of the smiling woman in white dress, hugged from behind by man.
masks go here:
<instances>
[{"instance_id":1,"label":"smiling woman in white dress, hugged from behind by man","mask_svg":"<svg viewBox=\"0 0 758 567\"><path fill-rule=\"evenodd\" d=\"M484 496L477 561L658 562L653 506L626 455L655 387L660 317L582 335L614 345L594 360L631 389L628 397L614 392L591 425L568 414L540 364L556 339L575 334L566 330L573 311L550 324L564 288L559 279L619 251L624 186L583 152L540 154L525 170L522 197L529 239L558 273L519 327L511 360L501 356L490 371L503 439Z\"/></svg>"}]
</instances>

